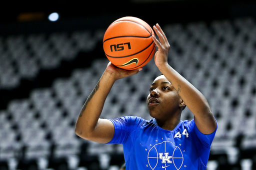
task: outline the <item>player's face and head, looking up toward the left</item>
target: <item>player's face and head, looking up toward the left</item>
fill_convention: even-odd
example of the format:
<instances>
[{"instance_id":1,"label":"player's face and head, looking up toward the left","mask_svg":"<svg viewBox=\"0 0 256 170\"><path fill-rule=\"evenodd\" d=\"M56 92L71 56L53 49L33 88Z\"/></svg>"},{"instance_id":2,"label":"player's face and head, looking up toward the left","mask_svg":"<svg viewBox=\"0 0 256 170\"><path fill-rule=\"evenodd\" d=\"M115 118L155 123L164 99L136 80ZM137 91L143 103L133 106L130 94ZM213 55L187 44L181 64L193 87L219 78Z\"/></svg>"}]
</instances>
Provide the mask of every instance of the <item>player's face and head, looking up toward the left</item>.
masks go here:
<instances>
[{"instance_id":1,"label":"player's face and head, looking up toward the left","mask_svg":"<svg viewBox=\"0 0 256 170\"><path fill-rule=\"evenodd\" d=\"M146 104L151 117L164 120L180 113L182 100L164 75L154 79L149 91Z\"/></svg>"}]
</instances>

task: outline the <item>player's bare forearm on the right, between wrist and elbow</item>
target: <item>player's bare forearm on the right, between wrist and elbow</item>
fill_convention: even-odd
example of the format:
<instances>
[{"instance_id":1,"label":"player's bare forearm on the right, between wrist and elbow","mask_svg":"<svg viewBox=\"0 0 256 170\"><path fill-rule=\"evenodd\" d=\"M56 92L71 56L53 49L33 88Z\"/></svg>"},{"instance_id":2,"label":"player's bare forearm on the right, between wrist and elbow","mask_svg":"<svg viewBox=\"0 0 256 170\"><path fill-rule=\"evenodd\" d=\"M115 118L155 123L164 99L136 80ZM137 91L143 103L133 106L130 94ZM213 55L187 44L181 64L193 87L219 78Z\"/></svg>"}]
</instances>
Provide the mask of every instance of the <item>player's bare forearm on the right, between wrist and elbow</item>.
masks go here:
<instances>
[{"instance_id":1,"label":"player's bare forearm on the right, between wrist and elbow","mask_svg":"<svg viewBox=\"0 0 256 170\"><path fill-rule=\"evenodd\" d=\"M159 67L159 70L171 82L181 99L195 116L207 116L210 113L210 107L205 97L184 77L168 64Z\"/></svg>"}]
</instances>

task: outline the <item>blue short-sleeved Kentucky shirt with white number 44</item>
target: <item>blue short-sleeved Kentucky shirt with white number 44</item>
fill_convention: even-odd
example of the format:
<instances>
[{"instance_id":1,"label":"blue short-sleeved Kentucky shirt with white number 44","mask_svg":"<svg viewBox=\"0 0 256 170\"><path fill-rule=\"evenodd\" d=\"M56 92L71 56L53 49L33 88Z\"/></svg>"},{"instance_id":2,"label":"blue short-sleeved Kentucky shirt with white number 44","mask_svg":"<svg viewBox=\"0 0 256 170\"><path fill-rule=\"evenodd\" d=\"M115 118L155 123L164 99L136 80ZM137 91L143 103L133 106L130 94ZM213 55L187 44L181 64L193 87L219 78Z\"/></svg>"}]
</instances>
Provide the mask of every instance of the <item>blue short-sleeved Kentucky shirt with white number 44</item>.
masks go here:
<instances>
[{"instance_id":1,"label":"blue short-sleeved Kentucky shirt with white number 44","mask_svg":"<svg viewBox=\"0 0 256 170\"><path fill-rule=\"evenodd\" d=\"M108 144L123 145L126 170L206 169L216 130L204 135L194 120L180 121L172 131L160 128L155 119L126 116L110 121L114 136Z\"/></svg>"}]
</instances>

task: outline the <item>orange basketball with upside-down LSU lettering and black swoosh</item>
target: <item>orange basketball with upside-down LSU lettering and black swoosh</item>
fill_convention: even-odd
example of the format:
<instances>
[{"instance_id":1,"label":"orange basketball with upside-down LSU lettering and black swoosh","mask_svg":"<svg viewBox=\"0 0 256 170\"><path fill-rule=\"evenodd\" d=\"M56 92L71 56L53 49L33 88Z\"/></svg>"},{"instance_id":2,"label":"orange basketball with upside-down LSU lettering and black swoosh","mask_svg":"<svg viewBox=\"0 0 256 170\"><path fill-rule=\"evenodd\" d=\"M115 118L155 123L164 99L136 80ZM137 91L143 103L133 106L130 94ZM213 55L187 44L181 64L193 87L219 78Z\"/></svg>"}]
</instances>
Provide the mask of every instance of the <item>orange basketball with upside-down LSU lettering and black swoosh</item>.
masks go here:
<instances>
[{"instance_id":1,"label":"orange basketball with upside-down LSU lettering and black swoosh","mask_svg":"<svg viewBox=\"0 0 256 170\"><path fill-rule=\"evenodd\" d=\"M103 49L116 67L134 70L143 67L155 52L151 27L143 20L126 16L112 22L103 37Z\"/></svg>"}]
</instances>

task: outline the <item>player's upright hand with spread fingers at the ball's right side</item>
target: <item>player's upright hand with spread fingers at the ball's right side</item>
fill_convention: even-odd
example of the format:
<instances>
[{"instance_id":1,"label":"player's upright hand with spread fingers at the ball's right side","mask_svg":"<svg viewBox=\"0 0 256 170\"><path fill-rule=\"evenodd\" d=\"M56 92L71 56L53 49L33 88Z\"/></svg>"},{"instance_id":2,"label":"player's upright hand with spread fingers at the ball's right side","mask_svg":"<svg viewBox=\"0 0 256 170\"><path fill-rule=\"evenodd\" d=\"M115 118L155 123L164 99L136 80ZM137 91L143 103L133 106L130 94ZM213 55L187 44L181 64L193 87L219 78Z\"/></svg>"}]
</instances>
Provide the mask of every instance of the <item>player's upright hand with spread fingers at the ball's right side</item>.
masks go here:
<instances>
[{"instance_id":1,"label":"player's upright hand with spread fingers at the ball's right side","mask_svg":"<svg viewBox=\"0 0 256 170\"><path fill-rule=\"evenodd\" d=\"M170 45L158 23L153 26L153 29L156 35L159 37L158 41L155 36L152 36L154 43L158 47L158 50L154 54L154 62L155 65L159 68L162 65L167 64Z\"/></svg>"}]
</instances>

